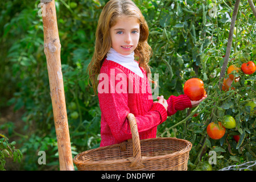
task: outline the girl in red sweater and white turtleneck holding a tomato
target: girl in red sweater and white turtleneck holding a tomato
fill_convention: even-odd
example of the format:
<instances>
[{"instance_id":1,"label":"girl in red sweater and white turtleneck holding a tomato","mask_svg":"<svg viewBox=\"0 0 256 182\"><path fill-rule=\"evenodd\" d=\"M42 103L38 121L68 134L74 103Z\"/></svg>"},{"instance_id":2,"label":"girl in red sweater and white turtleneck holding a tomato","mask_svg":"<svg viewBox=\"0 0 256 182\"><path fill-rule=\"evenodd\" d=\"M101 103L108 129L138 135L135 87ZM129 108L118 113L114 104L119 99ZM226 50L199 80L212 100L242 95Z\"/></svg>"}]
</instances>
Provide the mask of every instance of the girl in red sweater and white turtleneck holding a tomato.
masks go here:
<instances>
[{"instance_id":1,"label":"girl in red sweater and white turtleneck holding a tomato","mask_svg":"<svg viewBox=\"0 0 256 182\"><path fill-rule=\"evenodd\" d=\"M133 113L140 139L155 138L156 129L177 110L199 105L188 96L163 96L153 102L148 61L148 26L130 0L106 3L96 31L96 45L88 65L94 93L101 109L101 144L109 146L131 138L127 114ZM138 62L134 60L138 57Z\"/></svg>"}]
</instances>

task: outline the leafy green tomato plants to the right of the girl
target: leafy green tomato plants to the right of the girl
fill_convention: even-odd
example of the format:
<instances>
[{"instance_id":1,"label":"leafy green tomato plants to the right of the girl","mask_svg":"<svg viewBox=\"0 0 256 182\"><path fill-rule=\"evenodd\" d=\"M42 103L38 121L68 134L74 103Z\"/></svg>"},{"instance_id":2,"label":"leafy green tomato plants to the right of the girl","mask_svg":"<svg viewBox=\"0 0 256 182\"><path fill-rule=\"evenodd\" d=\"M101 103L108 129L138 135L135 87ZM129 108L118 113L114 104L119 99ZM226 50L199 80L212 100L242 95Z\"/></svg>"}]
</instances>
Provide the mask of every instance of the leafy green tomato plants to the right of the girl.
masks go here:
<instances>
[{"instance_id":1,"label":"leafy green tomato plants to the right of the girl","mask_svg":"<svg viewBox=\"0 0 256 182\"><path fill-rule=\"evenodd\" d=\"M170 6L164 6L167 4ZM226 75L220 78L221 68L228 56L227 33L230 30L232 13L219 12L215 17L209 16L212 8L209 1L187 1L187 4L161 1L158 6L154 3L147 5L151 9L145 14L146 17L159 17L159 20L149 22L152 31L149 43L154 51L152 72L162 73L159 74L161 92L165 97L183 93L182 85L185 81L196 77L204 82L208 94L195 111L199 113L196 117L191 117L177 126L181 118L184 119L193 109L177 112L158 127L159 135L168 128L171 130L160 136L174 136L191 141L193 148L189 155L190 170L199 169L197 165L209 158L210 151L216 151L218 156L217 164L212 165L213 170L255 160L252 151L255 148L255 116L250 114L250 107L245 106L247 102L256 103L255 73L246 75L240 69L238 72L234 69L229 73L227 67ZM162 11L154 13L159 6L163 7ZM234 2L217 2L217 6L221 7L222 12L229 12L229 7L234 8ZM228 65L236 65L238 68L248 61L255 63L256 59L256 24L249 9L246 2L241 2L228 60ZM158 35L164 35L165 39L164 36L160 39ZM229 75L238 78L230 79ZM160 82L166 78L168 81ZM221 121L225 115L234 118L236 127L226 129L220 139L209 138L209 123ZM238 143L233 135L240 135Z\"/></svg>"}]
</instances>

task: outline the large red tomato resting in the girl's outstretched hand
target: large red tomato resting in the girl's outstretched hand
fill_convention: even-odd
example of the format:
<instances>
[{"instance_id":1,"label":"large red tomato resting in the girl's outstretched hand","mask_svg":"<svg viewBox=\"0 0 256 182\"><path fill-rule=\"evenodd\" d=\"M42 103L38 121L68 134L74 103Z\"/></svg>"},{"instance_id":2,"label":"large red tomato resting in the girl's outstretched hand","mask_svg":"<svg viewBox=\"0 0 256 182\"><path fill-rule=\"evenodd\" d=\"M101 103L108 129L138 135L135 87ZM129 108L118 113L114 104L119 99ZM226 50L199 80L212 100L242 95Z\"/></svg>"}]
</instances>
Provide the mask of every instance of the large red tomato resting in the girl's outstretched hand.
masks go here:
<instances>
[{"instance_id":1,"label":"large red tomato resting in the girl's outstretched hand","mask_svg":"<svg viewBox=\"0 0 256 182\"><path fill-rule=\"evenodd\" d=\"M204 82L199 78L191 78L184 84L184 94L186 94L191 101L199 101L206 95L204 89Z\"/></svg>"}]
</instances>

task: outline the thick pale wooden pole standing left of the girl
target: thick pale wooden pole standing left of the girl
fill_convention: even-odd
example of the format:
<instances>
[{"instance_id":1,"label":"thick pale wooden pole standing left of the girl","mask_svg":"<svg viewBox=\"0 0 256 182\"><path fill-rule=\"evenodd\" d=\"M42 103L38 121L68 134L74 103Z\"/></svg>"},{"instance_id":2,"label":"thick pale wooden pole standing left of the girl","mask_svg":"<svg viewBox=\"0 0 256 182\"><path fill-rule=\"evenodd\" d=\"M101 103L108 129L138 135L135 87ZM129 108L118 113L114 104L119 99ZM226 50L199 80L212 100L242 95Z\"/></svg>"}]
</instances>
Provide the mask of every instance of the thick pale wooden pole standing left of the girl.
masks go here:
<instances>
[{"instance_id":1,"label":"thick pale wooden pole standing left of the girl","mask_svg":"<svg viewBox=\"0 0 256 182\"><path fill-rule=\"evenodd\" d=\"M67 109L65 105L63 75L61 72L61 45L57 27L55 1L41 0L41 7L43 14L44 53L46 54L47 60L50 95L59 151L60 170L73 171L74 166L69 138Z\"/></svg>"}]
</instances>

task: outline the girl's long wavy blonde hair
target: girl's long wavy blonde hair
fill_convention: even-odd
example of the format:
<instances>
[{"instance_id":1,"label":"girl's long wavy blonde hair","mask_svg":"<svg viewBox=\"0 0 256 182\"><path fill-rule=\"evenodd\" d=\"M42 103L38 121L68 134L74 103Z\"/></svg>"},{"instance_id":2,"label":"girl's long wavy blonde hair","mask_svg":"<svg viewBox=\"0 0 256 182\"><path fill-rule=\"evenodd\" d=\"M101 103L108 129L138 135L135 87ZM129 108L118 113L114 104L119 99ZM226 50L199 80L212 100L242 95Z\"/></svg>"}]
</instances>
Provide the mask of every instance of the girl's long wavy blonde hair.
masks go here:
<instances>
[{"instance_id":1,"label":"girl's long wavy blonde hair","mask_svg":"<svg viewBox=\"0 0 256 182\"><path fill-rule=\"evenodd\" d=\"M94 94L97 94L97 77L100 74L102 63L106 59L106 54L112 46L110 28L115 25L117 18L122 15L138 18L140 35L138 46L134 50L134 55L138 57L139 66L144 68L147 73L151 73L148 61L150 60L152 49L147 43L149 31L141 10L130 0L111 0L106 3L98 19L94 53L87 68L89 73L88 83L89 80L92 82L92 85L90 85L90 83L89 85L93 87Z\"/></svg>"}]
</instances>

